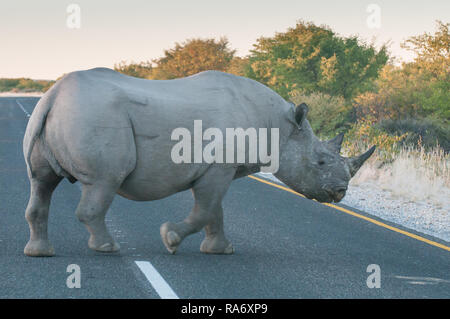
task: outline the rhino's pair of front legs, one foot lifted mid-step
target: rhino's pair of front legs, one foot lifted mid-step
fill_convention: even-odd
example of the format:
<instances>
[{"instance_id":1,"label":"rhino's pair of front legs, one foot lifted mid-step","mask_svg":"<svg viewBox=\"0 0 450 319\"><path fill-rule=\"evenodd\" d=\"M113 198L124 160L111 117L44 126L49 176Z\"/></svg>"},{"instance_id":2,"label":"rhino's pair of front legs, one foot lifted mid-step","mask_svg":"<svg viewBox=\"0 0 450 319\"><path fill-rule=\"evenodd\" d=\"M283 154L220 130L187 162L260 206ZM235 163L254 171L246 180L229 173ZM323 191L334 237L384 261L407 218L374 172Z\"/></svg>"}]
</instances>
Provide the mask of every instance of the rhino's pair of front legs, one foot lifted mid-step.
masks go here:
<instances>
[{"instance_id":1,"label":"rhino's pair of front legs, one foot lifted mid-step","mask_svg":"<svg viewBox=\"0 0 450 319\"><path fill-rule=\"evenodd\" d=\"M235 175L235 168L211 166L192 188L195 205L181 223L167 222L161 226L161 238L174 254L182 240L205 228L206 237L200 250L204 253L231 254L233 247L223 231L222 199Z\"/></svg>"}]
</instances>

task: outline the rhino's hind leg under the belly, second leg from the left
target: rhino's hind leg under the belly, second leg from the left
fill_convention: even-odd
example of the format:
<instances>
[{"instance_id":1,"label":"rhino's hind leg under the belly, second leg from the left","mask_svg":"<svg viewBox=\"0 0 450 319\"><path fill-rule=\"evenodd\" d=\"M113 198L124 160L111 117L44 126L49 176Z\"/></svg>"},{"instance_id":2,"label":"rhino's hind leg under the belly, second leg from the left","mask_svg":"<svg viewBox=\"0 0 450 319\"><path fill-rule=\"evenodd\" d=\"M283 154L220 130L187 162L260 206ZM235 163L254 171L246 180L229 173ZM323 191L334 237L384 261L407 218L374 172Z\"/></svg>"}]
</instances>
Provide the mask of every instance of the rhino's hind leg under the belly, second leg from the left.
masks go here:
<instances>
[{"instance_id":1,"label":"rhino's hind leg under the belly, second leg from the left","mask_svg":"<svg viewBox=\"0 0 450 319\"><path fill-rule=\"evenodd\" d=\"M114 198L116 188L96 183L83 185L76 215L90 233L88 246L101 252L115 252L120 249L109 234L105 216Z\"/></svg>"}]
</instances>

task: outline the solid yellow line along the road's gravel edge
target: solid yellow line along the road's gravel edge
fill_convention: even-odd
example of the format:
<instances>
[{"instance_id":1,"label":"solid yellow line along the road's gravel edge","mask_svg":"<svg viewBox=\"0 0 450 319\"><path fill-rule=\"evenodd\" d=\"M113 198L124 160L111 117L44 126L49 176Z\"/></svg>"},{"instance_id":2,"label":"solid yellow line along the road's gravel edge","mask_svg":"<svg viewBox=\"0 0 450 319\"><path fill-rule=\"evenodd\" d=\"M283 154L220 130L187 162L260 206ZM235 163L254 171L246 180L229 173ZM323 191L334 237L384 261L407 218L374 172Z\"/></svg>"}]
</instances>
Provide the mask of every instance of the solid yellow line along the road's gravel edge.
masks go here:
<instances>
[{"instance_id":1,"label":"solid yellow line along the road's gravel edge","mask_svg":"<svg viewBox=\"0 0 450 319\"><path fill-rule=\"evenodd\" d=\"M258 178L258 177L255 177L255 176L248 176L248 177L250 177L250 178L252 178L252 179L254 179L254 180L257 180L257 181L259 181L259 182L261 182L261 183L268 184L268 185L270 185L270 186L273 186L273 187L282 189L282 190L287 191L287 192L289 192L289 193L292 193L292 194L295 194L295 195L297 195L297 196L301 196L301 197L305 198L304 195L302 195L302 194L300 194L300 193L297 193L296 191L293 191L293 190L290 189L290 188L287 188L287 187L284 187L284 186L281 186L281 185L278 185L278 184L275 184L275 183L266 181L266 180L264 180L264 179L262 179L262 178ZM399 234L402 234L402 235L405 235L405 236L408 236L408 237L411 237L411 238L420 240L421 242L427 243L427 244L429 244L429 245L432 245L432 246L439 247L439 248L442 248L442 249L444 249L444 250L450 251L450 247L448 247L448 246L445 246L445 245L440 244L440 243L437 243L437 242L435 242L435 241L432 241L432 240L423 238L423 237L418 236L418 235L415 235L415 234L413 234L413 233L410 233L410 232L401 230L401 229L399 229L399 228L392 227L392 226L390 226L390 225L387 225L387 224L385 224L385 223L382 223L382 222L380 222L380 221L378 221L378 220L375 220L375 219L373 219L373 218L370 218L370 217L367 217L367 216L364 216L364 215L355 213L355 212L353 212L353 211L351 211L351 210L349 210L349 209L346 209L346 208L343 208L343 207L339 207L339 206L337 206L337 205L329 204L329 203L322 203L322 204L325 205L325 206L328 206L328 207L332 207L332 208L334 208L334 209L337 209L337 210L339 210L339 211L341 211L341 212L344 212L344 213L346 213L346 214L349 214L349 215L352 215L352 216L355 216L355 217L364 219L364 220L366 220L366 221L368 221L368 222L370 222L370 223L373 223L373 224L375 224L375 225L378 225L378 226L387 228L387 229L389 229L389 230L395 231L395 232L397 232L397 233L399 233Z\"/></svg>"}]
</instances>

